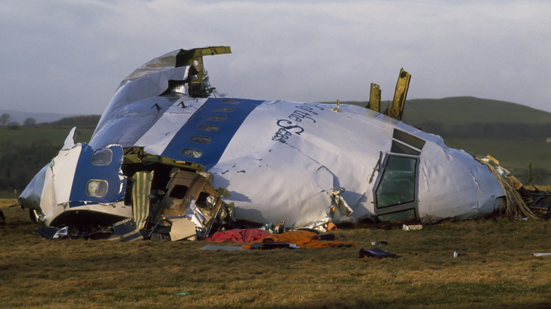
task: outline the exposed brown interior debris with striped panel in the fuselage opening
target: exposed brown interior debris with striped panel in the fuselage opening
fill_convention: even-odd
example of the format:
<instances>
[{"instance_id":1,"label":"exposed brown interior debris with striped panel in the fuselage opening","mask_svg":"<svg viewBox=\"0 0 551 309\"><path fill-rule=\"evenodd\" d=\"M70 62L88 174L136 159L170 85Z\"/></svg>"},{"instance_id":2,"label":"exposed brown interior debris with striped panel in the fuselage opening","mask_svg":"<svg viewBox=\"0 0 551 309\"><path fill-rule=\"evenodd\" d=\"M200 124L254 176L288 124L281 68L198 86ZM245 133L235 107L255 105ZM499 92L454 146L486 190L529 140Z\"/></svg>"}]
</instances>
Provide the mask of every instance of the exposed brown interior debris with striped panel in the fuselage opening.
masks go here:
<instances>
[{"instance_id":1,"label":"exposed brown interior debris with striped panel in the fuselage opening","mask_svg":"<svg viewBox=\"0 0 551 309\"><path fill-rule=\"evenodd\" d=\"M152 183L166 179L158 171L136 171L131 178L134 217L114 224L114 232L126 241L137 239L196 240L212 231L230 229L233 205L221 200L223 188L211 186L211 174L174 167L165 188ZM155 178L156 179L153 179Z\"/></svg>"}]
</instances>

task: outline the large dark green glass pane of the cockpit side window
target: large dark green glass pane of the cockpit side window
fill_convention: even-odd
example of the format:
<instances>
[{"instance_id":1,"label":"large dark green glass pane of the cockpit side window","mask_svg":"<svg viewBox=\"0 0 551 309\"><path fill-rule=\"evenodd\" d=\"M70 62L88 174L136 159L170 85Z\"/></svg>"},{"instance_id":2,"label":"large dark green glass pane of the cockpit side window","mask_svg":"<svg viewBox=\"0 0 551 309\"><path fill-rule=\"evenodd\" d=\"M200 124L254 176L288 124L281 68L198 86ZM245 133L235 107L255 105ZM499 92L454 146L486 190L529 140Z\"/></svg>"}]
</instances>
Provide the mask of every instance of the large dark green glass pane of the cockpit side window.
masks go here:
<instances>
[{"instance_id":1,"label":"large dark green glass pane of the cockpit side window","mask_svg":"<svg viewBox=\"0 0 551 309\"><path fill-rule=\"evenodd\" d=\"M389 156L376 190L377 208L415 201L416 166L415 158Z\"/></svg>"}]
</instances>

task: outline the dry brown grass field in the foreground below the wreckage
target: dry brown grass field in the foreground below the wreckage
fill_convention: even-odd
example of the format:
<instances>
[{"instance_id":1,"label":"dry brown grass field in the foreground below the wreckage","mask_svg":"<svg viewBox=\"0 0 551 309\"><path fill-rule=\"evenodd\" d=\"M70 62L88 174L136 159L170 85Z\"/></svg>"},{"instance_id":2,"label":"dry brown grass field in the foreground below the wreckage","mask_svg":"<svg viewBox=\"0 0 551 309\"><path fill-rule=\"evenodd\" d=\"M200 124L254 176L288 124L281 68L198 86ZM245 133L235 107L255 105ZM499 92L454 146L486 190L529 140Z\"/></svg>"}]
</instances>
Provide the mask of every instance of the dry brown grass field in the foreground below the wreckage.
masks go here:
<instances>
[{"instance_id":1,"label":"dry brown grass field in the foreground below the wreckage","mask_svg":"<svg viewBox=\"0 0 551 309\"><path fill-rule=\"evenodd\" d=\"M206 251L213 243L50 241L28 214L0 226L8 308L549 308L551 222L444 222L421 231L348 229L355 248ZM358 258L372 241L396 259ZM235 246L235 243L227 243ZM452 258L454 250L465 254ZM189 295L178 295L187 292Z\"/></svg>"}]
</instances>

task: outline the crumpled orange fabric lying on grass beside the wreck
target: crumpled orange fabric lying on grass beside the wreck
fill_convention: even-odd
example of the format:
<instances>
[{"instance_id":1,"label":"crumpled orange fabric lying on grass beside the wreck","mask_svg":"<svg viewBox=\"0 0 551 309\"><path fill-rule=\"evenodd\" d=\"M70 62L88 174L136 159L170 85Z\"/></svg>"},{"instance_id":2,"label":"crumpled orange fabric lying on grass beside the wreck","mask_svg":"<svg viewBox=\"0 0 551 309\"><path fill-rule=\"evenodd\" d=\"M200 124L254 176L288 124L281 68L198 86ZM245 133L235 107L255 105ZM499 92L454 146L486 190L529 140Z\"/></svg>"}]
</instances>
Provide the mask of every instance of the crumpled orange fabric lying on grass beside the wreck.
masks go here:
<instances>
[{"instance_id":1,"label":"crumpled orange fabric lying on grass beside the wreck","mask_svg":"<svg viewBox=\"0 0 551 309\"><path fill-rule=\"evenodd\" d=\"M318 234L311 231L288 231L283 234L271 234L268 237L247 243L243 248L250 249L253 243L276 243L283 241L303 248L328 248L339 246L356 246L355 243L344 241L320 241Z\"/></svg>"}]
</instances>

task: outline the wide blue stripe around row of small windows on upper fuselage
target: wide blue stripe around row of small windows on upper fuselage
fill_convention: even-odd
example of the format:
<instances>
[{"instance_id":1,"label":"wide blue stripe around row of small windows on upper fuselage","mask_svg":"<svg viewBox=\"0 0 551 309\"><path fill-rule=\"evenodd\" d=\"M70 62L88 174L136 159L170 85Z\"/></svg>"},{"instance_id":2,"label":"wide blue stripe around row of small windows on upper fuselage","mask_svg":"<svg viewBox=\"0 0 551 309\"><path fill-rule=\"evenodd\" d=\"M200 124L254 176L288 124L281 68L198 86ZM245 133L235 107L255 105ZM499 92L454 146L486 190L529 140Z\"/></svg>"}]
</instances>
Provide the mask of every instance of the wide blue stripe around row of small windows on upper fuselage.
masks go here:
<instances>
[{"instance_id":1,"label":"wide blue stripe around row of small windows on upper fuselage","mask_svg":"<svg viewBox=\"0 0 551 309\"><path fill-rule=\"evenodd\" d=\"M227 145L243 121L251 114L253 109L263 102L252 99L207 99L205 104L174 135L174 138L172 138L161 155L177 161L201 164L205 166L205 170L211 169L211 167L218 163L218 160L222 157ZM215 111L215 109L220 107L231 107L234 110ZM209 121L209 116L225 116L226 119L224 121ZM204 125L218 126L218 131L197 130L199 126ZM192 136L211 138L211 141L206 144L193 143L189 141L189 138ZM184 156L180 152L186 148L200 150L203 154L199 158Z\"/></svg>"}]
</instances>

